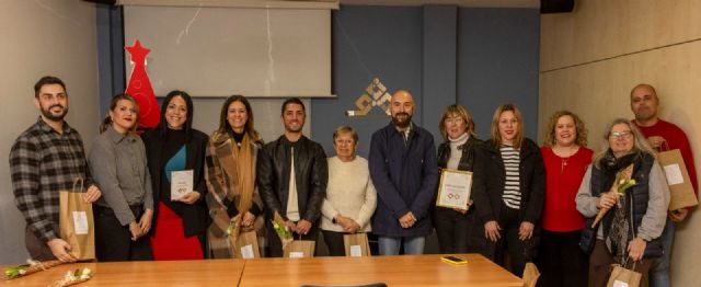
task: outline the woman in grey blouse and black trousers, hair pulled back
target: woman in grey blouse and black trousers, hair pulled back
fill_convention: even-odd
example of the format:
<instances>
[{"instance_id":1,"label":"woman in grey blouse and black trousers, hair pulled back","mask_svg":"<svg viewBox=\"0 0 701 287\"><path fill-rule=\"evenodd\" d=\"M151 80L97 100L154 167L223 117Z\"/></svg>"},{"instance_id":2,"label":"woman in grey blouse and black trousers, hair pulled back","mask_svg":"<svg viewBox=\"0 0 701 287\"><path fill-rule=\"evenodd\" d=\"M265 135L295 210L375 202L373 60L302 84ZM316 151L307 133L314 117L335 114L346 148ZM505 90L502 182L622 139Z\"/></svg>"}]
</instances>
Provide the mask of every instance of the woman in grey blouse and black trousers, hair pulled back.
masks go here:
<instances>
[{"instance_id":1,"label":"woman in grey blouse and black trousers, hair pulled back","mask_svg":"<svg viewBox=\"0 0 701 287\"><path fill-rule=\"evenodd\" d=\"M146 150L135 134L139 106L128 94L112 97L88 157L90 172L102 191L93 205L97 261L152 260L153 196Z\"/></svg>"}]
</instances>

